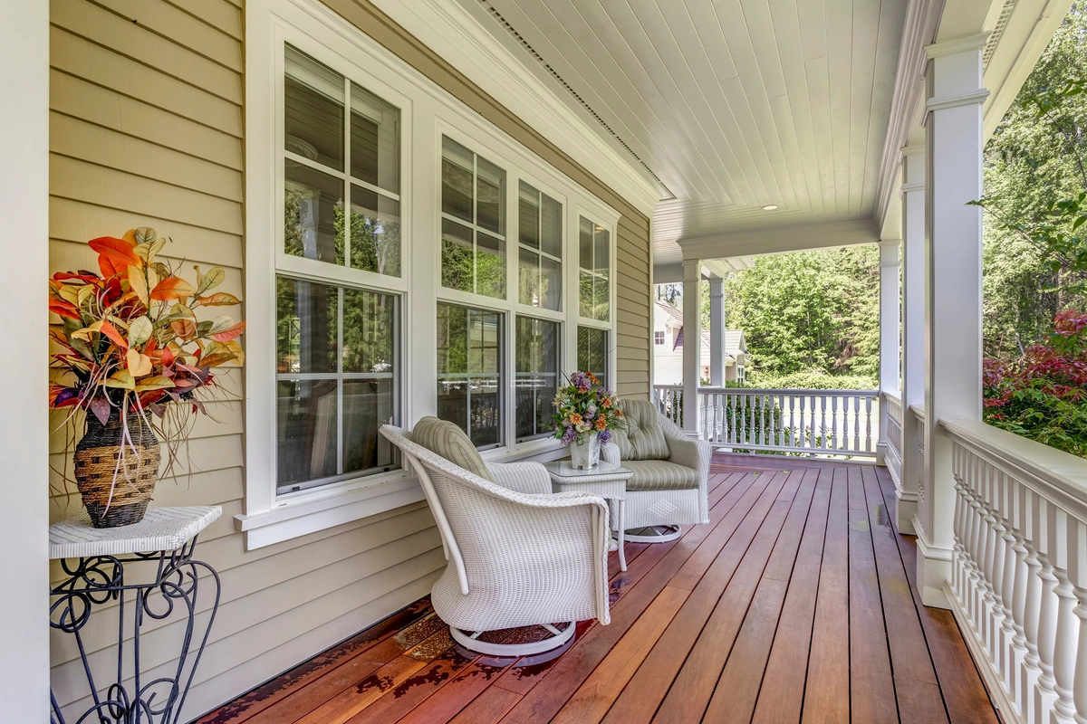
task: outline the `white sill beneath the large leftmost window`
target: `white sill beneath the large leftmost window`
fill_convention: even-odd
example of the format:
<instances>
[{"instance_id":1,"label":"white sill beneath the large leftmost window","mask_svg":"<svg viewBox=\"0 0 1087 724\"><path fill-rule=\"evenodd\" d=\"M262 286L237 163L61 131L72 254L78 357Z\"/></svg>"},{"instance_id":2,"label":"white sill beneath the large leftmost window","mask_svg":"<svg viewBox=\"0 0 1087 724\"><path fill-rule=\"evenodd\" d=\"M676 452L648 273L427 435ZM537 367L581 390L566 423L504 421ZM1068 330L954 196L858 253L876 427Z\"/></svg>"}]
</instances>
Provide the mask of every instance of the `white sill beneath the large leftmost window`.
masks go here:
<instances>
[{"instance_id":1,"label":"white sill beneath the large leftmost window","mask_svg":"<svg viewBox=\"0 0 1087 724\"><path fill-rule=\"evenodd\" d=\"M396 470L330 490L280 495L271 510L235 516L234 526L245 535L246 550L254 550L424 499L415 477Z\"/></svg>"}]
</instances>

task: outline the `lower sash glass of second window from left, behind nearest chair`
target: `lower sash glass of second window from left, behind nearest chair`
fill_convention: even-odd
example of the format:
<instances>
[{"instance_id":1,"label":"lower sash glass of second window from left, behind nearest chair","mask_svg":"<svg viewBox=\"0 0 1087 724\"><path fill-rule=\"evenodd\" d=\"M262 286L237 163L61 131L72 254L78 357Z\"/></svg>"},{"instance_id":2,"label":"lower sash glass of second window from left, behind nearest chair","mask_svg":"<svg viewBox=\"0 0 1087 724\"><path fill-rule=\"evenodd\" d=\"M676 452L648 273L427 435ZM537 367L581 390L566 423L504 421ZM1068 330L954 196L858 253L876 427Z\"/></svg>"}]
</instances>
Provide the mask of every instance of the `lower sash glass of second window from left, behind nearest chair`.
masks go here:
<instances>
[{"instance_id":1,"label":"lower sash glass of second window from left, behind nearest chair","mask_svg":"<svg viewBox=\"0 0 1087 724\"><path fill-rule=\"evenodd\" d=\"M438 417L476 447L502 435L502 321L497 312L438 304Z\"/></svg>"}]
</instances>

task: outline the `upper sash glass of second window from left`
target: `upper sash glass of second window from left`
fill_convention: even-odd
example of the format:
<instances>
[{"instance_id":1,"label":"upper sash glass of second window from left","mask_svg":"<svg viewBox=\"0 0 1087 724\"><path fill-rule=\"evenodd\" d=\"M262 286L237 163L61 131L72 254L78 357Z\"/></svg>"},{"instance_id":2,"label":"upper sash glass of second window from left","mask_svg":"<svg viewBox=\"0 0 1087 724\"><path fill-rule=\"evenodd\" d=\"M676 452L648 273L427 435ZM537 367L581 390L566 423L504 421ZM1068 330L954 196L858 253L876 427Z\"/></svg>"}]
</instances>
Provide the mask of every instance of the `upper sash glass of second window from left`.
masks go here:
<instances>
[{"instance_id":1,"label":"upper sash glass of second window from left","mask_svg":"<svg viewBox=\"0 0 1087 724\"><path fill-rule=\"evenodd\" d=\"M441 139L441 285L505 299L505 172Z\"/></svg>"}]
</instances>

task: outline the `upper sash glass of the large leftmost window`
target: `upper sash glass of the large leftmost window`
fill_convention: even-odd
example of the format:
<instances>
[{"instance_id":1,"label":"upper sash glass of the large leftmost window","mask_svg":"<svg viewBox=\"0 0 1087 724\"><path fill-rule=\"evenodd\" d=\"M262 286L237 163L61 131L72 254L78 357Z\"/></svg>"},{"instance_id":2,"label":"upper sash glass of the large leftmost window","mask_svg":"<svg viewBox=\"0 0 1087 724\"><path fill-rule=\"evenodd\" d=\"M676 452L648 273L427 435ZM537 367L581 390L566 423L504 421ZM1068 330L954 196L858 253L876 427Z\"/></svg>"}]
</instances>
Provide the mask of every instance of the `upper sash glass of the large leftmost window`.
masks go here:
<instances>
[{"instance_id":1,"label":"upper sash glass of the large leftmost window","mask_svg":"<svg viewBox=\"0 0 1087 724\"><path fill-rule=\"evenodd\" d=\"M284 251L399 277L400 110L299 50L285 52Z\"/></svg>"}]
</instances>

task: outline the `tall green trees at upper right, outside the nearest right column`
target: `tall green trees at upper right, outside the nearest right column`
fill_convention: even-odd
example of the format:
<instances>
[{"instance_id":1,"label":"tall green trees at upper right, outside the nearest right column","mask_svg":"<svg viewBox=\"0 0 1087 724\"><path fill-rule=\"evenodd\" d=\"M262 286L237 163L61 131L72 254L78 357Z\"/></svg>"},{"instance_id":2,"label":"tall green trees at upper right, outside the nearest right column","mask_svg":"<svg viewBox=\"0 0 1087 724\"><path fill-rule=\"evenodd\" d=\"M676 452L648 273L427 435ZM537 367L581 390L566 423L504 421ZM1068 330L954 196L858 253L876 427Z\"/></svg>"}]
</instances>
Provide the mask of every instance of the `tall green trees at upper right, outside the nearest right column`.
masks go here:
<instances>
[{"instance_id":1,"label":"tall green trees at upper right, outside the nearest right column","mask_svg":"<svg viewBox=\"0 0 1087 724\"><path fill-rule=\"evenodd\" d=\"M1084 303L1087 247L1075 229L1087 191L1080 78L1087 78L1087 3L1077 2L985 149L988 357L1022 356L1045 339L1058 312Z\"/></svg>"}]
</instances>

